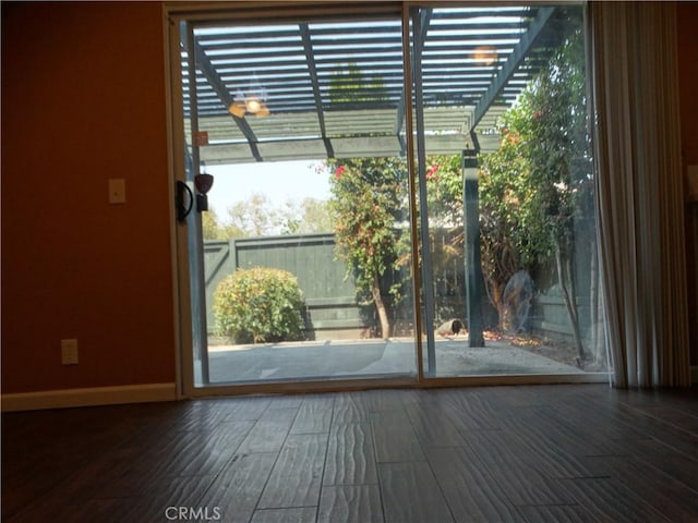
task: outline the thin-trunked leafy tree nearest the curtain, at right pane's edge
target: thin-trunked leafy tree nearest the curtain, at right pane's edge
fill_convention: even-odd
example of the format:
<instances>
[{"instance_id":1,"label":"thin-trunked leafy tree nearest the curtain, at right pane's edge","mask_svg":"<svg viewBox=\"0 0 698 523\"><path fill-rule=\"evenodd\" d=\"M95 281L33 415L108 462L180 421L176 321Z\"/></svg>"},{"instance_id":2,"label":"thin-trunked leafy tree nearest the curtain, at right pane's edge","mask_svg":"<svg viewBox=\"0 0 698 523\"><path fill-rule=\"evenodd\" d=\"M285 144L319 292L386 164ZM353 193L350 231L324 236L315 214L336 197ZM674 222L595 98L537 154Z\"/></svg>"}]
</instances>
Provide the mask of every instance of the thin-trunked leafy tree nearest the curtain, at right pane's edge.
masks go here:
<instances>
[{"instance_id":1,"label":"thin-trunked leafy tree nearest the curtain, at right pane's edge","mask_svg":"<svg viewBox=\"0 0 698 523\"><path fill-rule=\"evenodd\" d=\"M531 183L553 245L557 280L573 327L578 357L583 357L576 305L573 259L575 221L591 194L587 133L583 38L570 36L527 92L531 114Z\"/></svg>"}]
</instances>

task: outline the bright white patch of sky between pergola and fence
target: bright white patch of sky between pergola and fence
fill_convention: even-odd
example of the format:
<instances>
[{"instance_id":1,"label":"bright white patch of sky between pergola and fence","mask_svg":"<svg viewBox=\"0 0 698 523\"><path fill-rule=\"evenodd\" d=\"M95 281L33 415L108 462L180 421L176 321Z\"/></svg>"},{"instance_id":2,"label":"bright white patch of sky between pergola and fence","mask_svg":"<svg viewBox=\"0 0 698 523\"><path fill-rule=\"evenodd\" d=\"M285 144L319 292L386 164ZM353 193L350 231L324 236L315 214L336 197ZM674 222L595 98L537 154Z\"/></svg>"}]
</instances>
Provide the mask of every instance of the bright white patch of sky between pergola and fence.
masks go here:
<instances>
[{"instance_id":1,"label":"bright white patch of sky between pergola and fence","mask_svg":"<svg viewBox=\"0 0 698 523\"><path fill-rule=\"evenodd\" d=\"M316 172L321 163L298 160L206 166L205 172L214 175L208 206L222 217L233 203L250 199L255 193L265 194L279 207L289 199L329 199L329 177Z\"/></svg>"}]
</instances>

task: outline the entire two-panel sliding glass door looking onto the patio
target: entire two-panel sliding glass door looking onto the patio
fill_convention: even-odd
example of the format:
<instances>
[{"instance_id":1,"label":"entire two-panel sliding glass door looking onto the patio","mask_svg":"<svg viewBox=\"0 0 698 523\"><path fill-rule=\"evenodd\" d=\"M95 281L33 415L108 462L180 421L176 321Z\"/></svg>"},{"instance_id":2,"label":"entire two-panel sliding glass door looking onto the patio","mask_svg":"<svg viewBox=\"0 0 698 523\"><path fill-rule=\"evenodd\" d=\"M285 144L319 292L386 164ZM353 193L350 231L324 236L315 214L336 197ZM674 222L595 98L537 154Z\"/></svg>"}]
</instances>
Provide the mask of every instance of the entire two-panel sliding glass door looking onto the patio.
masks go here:
<instances>
[{"instance_id":1,"label":"entire two-panel sliding glass door looking onto the patio","mask_svg":"<svg viewBox=\"0 0 698 523\"><path fill-rule=\"evenodd\" d=\"M603 376L582 17L171 13L189 388Z\"/></svg>"}]
</instances>

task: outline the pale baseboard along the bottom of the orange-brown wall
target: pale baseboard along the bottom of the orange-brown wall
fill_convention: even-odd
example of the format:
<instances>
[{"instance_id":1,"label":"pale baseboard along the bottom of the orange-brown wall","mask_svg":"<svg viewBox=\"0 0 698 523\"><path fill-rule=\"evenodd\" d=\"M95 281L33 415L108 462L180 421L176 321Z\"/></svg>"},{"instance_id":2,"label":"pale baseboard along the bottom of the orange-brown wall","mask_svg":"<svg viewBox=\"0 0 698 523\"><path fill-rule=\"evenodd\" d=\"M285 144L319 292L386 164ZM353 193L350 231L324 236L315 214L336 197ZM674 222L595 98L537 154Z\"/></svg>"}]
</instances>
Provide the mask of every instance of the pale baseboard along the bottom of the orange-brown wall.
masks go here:
<instances>
[{"instance_id":1,"label":"pale baseboard along the bottom of the orange-brown wall","mask_svg":"<svg viewBox=\"0 0 698 523\"><path fill-rule=\"evenodd\" d=\"M174 384L145 384L2 394L0 405L5 412L174 400L177 400Z\"/></svg>"}]
</instances>

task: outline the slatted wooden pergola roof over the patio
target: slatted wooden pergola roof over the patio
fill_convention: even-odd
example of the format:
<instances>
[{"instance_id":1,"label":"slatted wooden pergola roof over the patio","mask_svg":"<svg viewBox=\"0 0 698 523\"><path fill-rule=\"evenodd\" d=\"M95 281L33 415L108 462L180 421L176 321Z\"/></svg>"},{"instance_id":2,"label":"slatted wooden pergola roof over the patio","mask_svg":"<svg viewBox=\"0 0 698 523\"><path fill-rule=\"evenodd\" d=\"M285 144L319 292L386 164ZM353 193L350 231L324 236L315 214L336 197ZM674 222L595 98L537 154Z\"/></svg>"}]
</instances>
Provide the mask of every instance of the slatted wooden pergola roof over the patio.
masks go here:
<instances>
[{"instance_id":1,"label":"slatted wooden pergola roof over the patio","mask_svg":"<svg viewBox=\"0 0 698 523\"><path fill-rule=\"evenodd\" d=\"M473 136L496 147L497 117L569 19L559 7L416 9L412 102L425 151L477 148ZM400 20L378 15L196 26L182 45L184 112L198 117L185 118L188 144L206 145L206 165L405 155L404 56ZM266 115L229 111L251 94Z\"/></svg>"}]
</instances>

